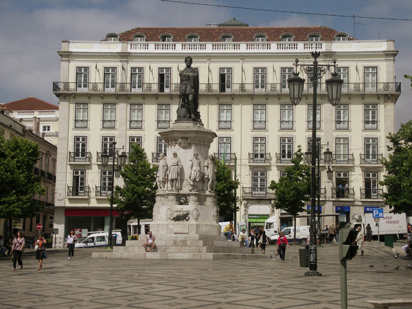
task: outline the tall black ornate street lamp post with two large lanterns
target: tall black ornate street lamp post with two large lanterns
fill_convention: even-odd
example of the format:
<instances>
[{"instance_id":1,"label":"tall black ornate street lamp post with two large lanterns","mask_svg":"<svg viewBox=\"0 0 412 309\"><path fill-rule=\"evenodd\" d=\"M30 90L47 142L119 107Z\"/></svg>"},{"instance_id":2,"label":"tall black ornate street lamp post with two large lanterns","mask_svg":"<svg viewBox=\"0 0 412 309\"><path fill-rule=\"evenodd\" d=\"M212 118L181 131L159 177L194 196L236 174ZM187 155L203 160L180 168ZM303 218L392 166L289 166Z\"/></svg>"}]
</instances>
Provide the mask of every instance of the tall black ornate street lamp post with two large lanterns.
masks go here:
<instances>
[{"instance_id":1,"label":"tall black ornate street lamp post with two large lanterns","mask_svg":"<svg viewBox=\"0 0 412 309\"><path fill-rule=\"evenodd\" d=\"M330 67L336 68L336 60L334 64L318 64L317 58L321 55L318 51L312 51L312 57L314 58L313 64L298 64L299 60L296 59L296 71L297 66L301 66L305 73L310 77L313 88L313 106L312 106L312 151L316 150L316 121L317 121L317 85L318 80L325 75L326 71L329 71ZM290 101L297 105L301 101L304 90L305 79L299 77L299 73L294 73L293 77L288 79ZM341 101L341 90L343 80L337 77L337 73L332 73L332 78L326 81L326 87L328 90L328 100L332 106ZM316 156L311 156L311 190L310 190L310 245L309 245L309 271L305 273L307 276L322 275L317 271L317 229L316 229ZM320 188L319 188L320 189Z\"/></svg>"}]
</instances>

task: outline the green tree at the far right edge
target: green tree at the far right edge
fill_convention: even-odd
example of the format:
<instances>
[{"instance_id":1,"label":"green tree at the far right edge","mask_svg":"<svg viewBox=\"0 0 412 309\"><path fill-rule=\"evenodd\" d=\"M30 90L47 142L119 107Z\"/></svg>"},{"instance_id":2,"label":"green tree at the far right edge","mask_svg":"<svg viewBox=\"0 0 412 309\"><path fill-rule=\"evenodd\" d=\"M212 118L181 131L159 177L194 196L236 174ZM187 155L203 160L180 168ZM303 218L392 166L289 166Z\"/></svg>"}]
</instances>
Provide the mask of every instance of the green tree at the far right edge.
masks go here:
<instances>
[{"instance_id":1,"label":"green tree at the far right edge","mask_svg":"<svg viewBox=\"0 0 412 309\"><path fill-rule=\"evenodd\" d=\"M392 145L387 146L388 159L383 158L387 175L383 175L381 186L386 186L383 193L385 204L393 208L396 214L412 214L412 120L402 123L396 133L387 136Z\"/></svg>"}]
</instances>

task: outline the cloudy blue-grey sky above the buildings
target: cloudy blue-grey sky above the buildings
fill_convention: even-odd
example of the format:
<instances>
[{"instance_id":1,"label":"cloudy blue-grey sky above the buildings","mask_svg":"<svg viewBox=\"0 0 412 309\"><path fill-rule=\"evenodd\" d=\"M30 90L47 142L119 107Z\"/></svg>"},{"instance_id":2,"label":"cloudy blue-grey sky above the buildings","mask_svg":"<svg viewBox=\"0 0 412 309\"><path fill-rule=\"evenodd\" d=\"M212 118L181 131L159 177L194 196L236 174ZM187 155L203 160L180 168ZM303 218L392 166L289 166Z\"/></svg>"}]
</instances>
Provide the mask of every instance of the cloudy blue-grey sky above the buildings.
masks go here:
<instances>
[{"instance_id":1,"label":"cloudy blue-grey sky above the buildings","mask_svg":"<svg viewBox=\"0 0 412 309\"><path fill-rule=\"evenodd\" d=\"M185 0L182 0L185 1ZM102 40L135 27L206 27L238 18L249 26L328 26L359 40L395 40L396 129L412 119L412 21L391 21L306 13L412 19L411 0L187 0L263 10L243 10L161 0L1 0L0 103L37 97L58 103L52 83L60 81L62 40ZM272 10L272 11L271 11ZM273 12L282 10L289 12ZM355 26L355 27L354 27Z\"/></svg>"}]
</instances>

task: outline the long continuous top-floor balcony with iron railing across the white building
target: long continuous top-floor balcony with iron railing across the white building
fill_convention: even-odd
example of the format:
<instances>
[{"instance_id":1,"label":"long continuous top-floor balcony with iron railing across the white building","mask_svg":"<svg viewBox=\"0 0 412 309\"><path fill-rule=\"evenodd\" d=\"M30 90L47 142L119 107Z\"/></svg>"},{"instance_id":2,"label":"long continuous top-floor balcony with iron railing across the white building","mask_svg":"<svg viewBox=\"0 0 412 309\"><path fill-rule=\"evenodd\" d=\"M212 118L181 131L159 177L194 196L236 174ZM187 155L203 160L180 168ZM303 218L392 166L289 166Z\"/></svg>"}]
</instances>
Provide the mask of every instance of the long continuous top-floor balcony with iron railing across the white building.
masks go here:
<instances>
[{"instance_id":1,"label":"long continuous top-floor balcony with iron railing across the white building","mask_svg":"<svg viewBox=\"0 0 412 309\"><path fill-rule=\"evenodd\" d=\"M170 84L161 84L161 83L142 83L141 88L137 91L135 84L133 83L112 83L110 88L105 86L104 82L89 82L82 83L84 87L78 88L78 83L76 82L53 82L53 92L55 95L60 94L72 94L72 93L123 93L123 94L144 94L144 93L172 93L179 95L180 83L170 83ZM369 87L369 83L348 83L344 84L347 86L342 89L342 93L380 93L380 94L399 94L400 95L400 86L399 82L380 82L374 84L374 87ZM281 83L266 83L262 88L256 88L254 83L231 83L226 85L227 87L222 88L220 83L200 83L199 84L199 93L201 94L260 94L260 95L289 95L288 88L285 88L285 85ZM326 84L321 83L318 86L318 94L328 93L326 90ZM312 93L312 87L305 84L304 93Z\"/></svg>"}]
</instances>

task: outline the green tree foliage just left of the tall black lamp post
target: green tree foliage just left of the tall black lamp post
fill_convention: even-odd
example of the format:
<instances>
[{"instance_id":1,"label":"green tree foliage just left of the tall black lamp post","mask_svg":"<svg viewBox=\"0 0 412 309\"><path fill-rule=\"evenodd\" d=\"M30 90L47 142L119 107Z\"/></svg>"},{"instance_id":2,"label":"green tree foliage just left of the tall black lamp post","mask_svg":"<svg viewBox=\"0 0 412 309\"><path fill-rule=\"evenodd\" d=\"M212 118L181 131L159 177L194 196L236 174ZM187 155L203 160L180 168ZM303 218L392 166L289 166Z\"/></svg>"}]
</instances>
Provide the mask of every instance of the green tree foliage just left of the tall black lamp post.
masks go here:
<instances>
[{"instance_id":1,"label":"green tree foliage just left of the tall black lamp post","mask_svg":"<svg viewBox=\"0 0 412 309\"><path fill-rule=\"evenodd\" d=\"M295 152L292 166L285 169L285 176L279 178L279 182L272 180L269 188L275 190L275 208L282 209L296 216L304 211L305 203L310 195L310 166L301 164L304 160L301 146Z\"/></svg>"}]
</instances>

